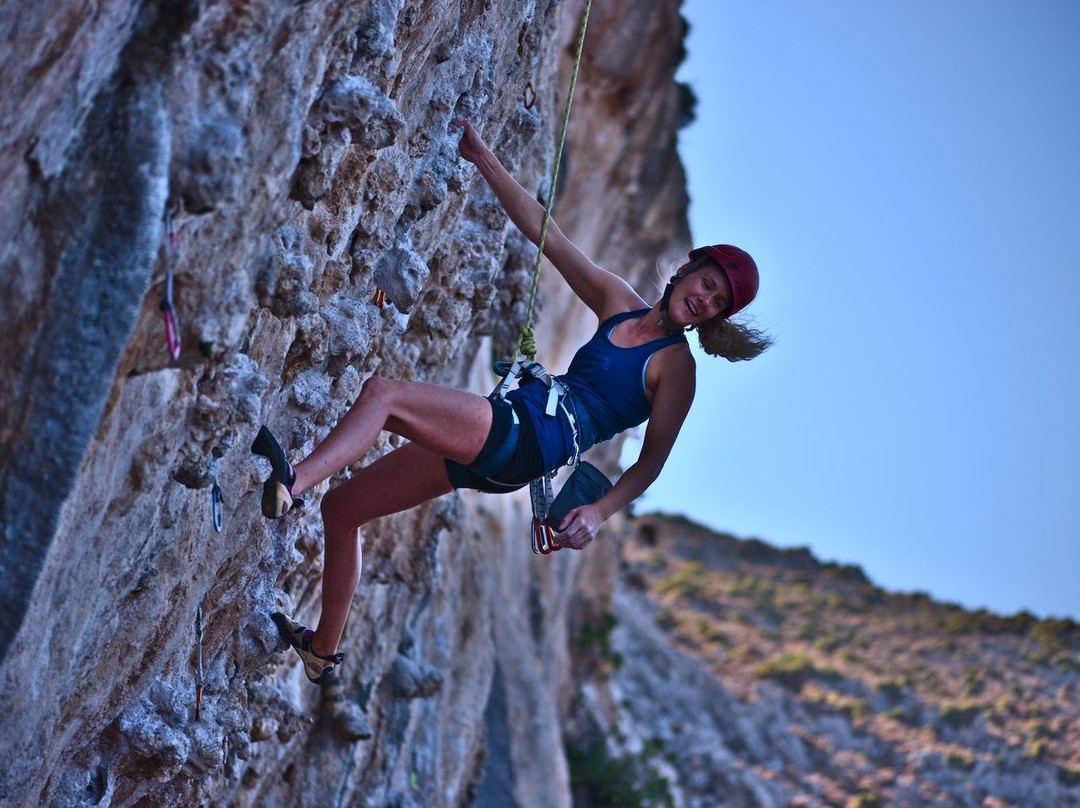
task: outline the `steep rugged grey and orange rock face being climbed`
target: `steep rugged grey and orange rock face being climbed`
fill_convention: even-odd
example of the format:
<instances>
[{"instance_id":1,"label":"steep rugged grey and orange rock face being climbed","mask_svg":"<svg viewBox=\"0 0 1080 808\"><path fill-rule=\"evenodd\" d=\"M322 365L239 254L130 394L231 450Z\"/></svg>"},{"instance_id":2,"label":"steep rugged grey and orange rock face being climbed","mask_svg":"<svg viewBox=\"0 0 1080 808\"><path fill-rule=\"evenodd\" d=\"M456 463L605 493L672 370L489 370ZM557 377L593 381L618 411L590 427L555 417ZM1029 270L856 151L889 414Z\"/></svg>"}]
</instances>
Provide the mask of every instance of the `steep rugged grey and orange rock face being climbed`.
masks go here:
<instances>
[{"instance_id":1,"label":"steep rugged grey and orange rock face being climbed","mask_svg":"<svg viewBox=\"0 0 1080 808\"><path fill-rule=\"evenodd\" d=\"M318 508L264 521L248 445L266 422L309 452L376 374L490 387L531 252L457 159L456 117L654 294L654 261L688 246L683 25L645 0L593 10L553 191L581 8L0 15L0 802L569 803L569 637L609 610L615 547L534 557L516 496L373 524L343 675L320 690L267 618L316 616ZM595 322L550 269L540 304L541 359L562 369Z\"/></svg>"}]
</instances>

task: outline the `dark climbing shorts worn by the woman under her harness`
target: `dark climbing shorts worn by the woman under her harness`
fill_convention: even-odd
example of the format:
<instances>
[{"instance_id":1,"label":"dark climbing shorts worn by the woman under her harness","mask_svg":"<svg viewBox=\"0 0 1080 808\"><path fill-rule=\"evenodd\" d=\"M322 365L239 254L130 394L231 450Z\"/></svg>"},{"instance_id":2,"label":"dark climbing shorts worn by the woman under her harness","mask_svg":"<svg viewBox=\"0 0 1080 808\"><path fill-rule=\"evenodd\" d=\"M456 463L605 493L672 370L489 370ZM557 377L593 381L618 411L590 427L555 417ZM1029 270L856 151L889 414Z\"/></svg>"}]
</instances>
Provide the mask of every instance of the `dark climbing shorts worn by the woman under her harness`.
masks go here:
<instances>
[{"instance_id":1,"label":"dark climbing shorts worn by the woman under her harness","mask_svg":"<svg viewBox=\"0 0 1080 808\"><path fill-rule=\"evenodd\" d=\"M455 488L505 494L543 476L543 460L528 418L504 399L488 399L488 402L491 429L483 448L468 466L447 460L446 472Z\"/></svg>"}]
</instances>

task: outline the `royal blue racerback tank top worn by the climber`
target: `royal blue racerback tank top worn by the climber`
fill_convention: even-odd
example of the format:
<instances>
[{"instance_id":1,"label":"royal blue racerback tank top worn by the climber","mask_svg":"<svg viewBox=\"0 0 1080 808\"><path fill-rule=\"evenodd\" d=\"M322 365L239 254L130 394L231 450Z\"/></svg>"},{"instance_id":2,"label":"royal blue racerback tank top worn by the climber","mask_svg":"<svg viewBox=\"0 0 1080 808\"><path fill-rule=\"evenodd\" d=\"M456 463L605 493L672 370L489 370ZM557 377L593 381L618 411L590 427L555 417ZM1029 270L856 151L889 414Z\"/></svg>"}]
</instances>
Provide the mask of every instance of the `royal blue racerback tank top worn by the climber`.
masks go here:
<instances>
[{"instance_id":1,"label":"royal blue racerback tank top worn by the climber","mask_svg":"<svg viewBox=\"0 0 1080 808\"><path fill-rule=\"evenodd\" d=\"M570 362L570 369L559 380L570 389L569 406L578 420L578 445L581 452L613 435L643 423L649 417L645 394L645 371L657 351L686 344L675 334L633 348L611 342L611 332L619 323L642 317L648 309L624 311L608 318L597 327ZM554 469L573 454L573 432L559 409L552 417L544 414L548 390L530 383L508 395L524 410L536 432L544 468Z\"/></svg>"}]
</instances>

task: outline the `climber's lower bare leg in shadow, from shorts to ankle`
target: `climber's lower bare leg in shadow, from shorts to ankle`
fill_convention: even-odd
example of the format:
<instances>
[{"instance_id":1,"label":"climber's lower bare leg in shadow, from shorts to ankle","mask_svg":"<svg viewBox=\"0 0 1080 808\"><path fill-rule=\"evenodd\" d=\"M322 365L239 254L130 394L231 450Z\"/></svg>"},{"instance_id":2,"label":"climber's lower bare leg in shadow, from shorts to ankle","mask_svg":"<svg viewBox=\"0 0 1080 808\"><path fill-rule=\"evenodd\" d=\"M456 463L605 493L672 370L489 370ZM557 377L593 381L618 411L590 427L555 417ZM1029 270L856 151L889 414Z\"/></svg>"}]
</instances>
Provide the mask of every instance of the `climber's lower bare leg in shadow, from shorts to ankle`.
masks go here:
<instances>
[{"instance_id":1,"label":"climber's lower bare leg in shadow, from shorts to ankle","mask_svg":"<svg viewBox=\"0 0 1080 808\"><path fill-rule=\"evenodd\" d=\"M322 614L311 638L315 654L334 654L341 641L363 566L359 528L379 516L415 508L451 489L444 459L409 443L361 469L323 497L326 553Z\"/></svg>"}]
</instances>

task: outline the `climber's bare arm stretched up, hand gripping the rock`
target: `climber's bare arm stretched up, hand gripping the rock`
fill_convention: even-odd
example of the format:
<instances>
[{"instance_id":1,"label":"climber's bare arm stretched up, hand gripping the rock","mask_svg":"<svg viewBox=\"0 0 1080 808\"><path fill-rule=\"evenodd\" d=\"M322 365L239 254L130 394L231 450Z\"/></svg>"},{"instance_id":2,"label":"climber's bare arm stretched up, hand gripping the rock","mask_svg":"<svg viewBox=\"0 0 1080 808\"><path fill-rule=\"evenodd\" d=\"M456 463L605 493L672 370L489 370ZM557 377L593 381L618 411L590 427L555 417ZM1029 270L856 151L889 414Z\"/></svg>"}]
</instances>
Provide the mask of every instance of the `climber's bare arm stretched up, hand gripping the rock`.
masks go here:
<instances>
[{"instance_id":1,"label":"climber's bare arm stretched up, hand gripping the rock","mask_svg":"<svg viewBox=\"0 0 1080 808\"><path fill-rule=\"evenodd\" d=\"M526 191L495 153L487 147L468 121L455 121L464 129L458 149L465 160L480 169L481 175L491 186L510 220L534 244L540 241L544 208ZM544 237L543 254L566 280L582 302L604 319L612 309L622 311L637 308L645 302L634 288L619 275L602 269L590 260L552 220Z\"/></svg>"}]
</instances>

